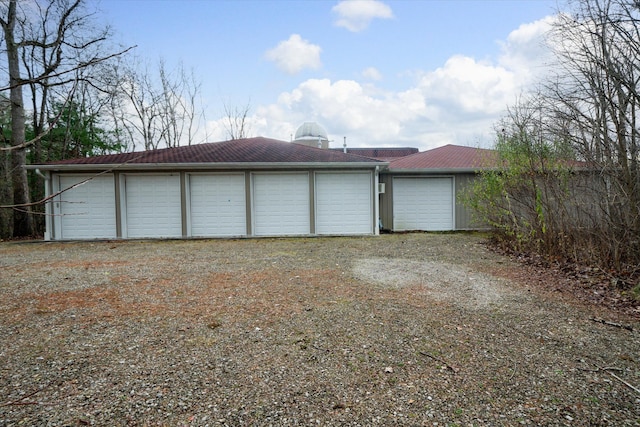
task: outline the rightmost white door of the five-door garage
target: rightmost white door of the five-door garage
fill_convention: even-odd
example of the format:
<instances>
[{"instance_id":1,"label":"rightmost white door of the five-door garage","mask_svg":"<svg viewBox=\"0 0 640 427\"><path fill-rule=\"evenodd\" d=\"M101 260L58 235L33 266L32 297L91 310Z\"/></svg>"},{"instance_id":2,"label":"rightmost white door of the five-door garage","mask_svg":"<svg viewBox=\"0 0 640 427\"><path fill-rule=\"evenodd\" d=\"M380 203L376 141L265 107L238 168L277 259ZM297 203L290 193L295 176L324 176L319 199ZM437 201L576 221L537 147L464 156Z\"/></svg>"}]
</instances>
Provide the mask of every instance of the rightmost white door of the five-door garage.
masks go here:
<instances>
[{"instance_id":1,"label":"rightmost white door of the five-door garage","mask_svg":"<svg viewBox=\"0 0 640 427\"><path fill-rule=\"evenodd\" d=\"M371 234L371 173L316 174L316 233Z\"/></svg>"}]
</instances>

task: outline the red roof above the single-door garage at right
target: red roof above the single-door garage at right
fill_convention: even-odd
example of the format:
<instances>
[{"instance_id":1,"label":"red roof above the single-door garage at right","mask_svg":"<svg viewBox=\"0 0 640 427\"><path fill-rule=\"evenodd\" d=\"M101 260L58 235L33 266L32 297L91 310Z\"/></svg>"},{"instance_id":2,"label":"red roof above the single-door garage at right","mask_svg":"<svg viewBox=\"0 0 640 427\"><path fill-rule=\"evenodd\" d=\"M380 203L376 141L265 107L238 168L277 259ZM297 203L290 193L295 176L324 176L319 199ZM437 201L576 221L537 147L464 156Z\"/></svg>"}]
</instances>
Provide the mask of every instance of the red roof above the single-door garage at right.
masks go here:
<instances>
[{"instance_id":1,"label":"red roof above the single-door garage at right","mask_svg":"<svg viewBox=\"0 0 640 427\"><path fill-rule=\"evenodd\" d=\"M389 169L481 169L496 161L495 150L449 144L392 160Z\"/></svg>"}]
</instances>

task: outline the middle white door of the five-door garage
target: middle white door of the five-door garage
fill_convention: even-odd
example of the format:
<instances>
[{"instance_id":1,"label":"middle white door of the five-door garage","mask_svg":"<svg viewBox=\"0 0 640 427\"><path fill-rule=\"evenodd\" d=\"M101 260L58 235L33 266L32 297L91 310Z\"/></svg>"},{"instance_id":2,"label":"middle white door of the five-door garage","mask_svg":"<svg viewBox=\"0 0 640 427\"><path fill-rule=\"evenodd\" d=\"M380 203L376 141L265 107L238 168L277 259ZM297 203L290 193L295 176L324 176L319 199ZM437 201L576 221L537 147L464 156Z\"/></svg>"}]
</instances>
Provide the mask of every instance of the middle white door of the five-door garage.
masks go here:
<instances>
[{"instance_id":1,"label":"middle white door of the five-door garage","mask_svg":"<svg viewBox=\"0 0 640 427\"><path fill-rule=\"evenodd\" d=\"M247 234L244 174L190 175L191 235Z\"/></svg>"}]
</instances>

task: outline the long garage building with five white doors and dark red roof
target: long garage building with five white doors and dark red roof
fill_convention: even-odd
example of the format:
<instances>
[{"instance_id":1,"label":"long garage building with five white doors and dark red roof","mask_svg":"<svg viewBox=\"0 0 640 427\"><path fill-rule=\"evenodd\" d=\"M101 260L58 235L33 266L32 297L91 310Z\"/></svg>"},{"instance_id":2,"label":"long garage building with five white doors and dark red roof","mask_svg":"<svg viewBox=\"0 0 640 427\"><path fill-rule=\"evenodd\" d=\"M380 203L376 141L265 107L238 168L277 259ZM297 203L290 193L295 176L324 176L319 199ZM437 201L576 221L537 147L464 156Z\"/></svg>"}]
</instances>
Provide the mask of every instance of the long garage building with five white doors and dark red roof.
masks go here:
<instances>
[{"instance_id":1,"label":"long garage building with five white doors and dark red roof","mask_svg":"<svg viewBox=\"0 0 640 427\"><path fill-rule=\"evenodd\" d=\"M247 138L32 166L46 239L378 234L388 162Z\"/></svg>"}]
</instances>

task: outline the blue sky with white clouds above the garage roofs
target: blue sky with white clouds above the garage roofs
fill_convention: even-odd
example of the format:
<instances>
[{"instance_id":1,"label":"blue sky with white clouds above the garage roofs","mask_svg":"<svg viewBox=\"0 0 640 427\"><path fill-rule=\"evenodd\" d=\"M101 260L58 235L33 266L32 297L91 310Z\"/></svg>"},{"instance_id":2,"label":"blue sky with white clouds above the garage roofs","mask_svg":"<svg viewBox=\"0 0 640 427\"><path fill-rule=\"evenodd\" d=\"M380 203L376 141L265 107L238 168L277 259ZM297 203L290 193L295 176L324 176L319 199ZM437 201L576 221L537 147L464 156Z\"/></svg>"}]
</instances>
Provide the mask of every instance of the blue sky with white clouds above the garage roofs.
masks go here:
<instances>
[{"instance_id":1,"label":"blue sky with white clouds above the garage roofs","mask_svg":"<svg viewBox=\"0 0 640 427\"><path fill-rule=\"evenodd\" d=\"M333 146L490 146L492 126L545 69L548 0L102 0L116 40L202 82L203 139L224 103L251 136L316 121Z\"/></svg>"}]
</instances>

